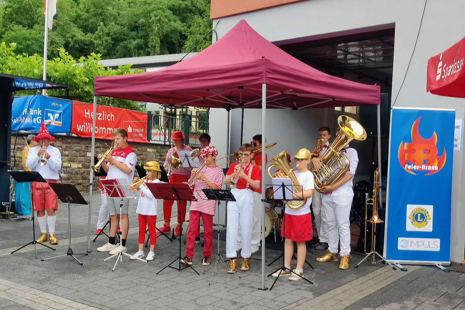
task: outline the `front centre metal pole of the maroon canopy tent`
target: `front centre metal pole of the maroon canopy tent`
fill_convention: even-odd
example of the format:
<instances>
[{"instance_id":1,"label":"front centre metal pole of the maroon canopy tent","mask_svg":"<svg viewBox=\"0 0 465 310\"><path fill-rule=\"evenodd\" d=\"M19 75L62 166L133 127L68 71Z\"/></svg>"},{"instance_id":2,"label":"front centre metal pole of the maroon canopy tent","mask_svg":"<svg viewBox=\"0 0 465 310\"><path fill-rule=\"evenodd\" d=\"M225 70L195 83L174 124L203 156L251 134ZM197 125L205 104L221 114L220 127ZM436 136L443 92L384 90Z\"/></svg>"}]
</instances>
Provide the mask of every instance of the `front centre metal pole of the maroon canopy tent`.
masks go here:
<instances>
[{"instance_id":1,"label":"front centre metal pole of the maroon canopy tent","mask_svg":"<svg viewBox=\"0 0 465 310\"><path fill-rule=\"evenodd\" d=\"M266 145L266 84L262 84L262 143ZM263 164L265 162L265 165ZM260 186L262 188L262 208L261 208L261 227L264 230L265 227L265 171L266 171L266 148L262 148L262 171L261 171L261 182ZM265 287L265 234L262 234L262 286L259 290L268 290Z\"/></svg>"}]
</instances>

